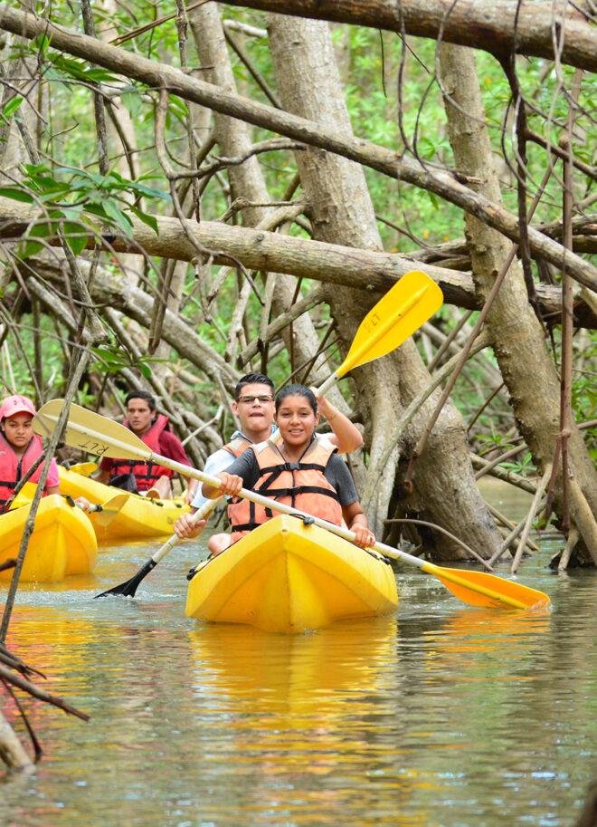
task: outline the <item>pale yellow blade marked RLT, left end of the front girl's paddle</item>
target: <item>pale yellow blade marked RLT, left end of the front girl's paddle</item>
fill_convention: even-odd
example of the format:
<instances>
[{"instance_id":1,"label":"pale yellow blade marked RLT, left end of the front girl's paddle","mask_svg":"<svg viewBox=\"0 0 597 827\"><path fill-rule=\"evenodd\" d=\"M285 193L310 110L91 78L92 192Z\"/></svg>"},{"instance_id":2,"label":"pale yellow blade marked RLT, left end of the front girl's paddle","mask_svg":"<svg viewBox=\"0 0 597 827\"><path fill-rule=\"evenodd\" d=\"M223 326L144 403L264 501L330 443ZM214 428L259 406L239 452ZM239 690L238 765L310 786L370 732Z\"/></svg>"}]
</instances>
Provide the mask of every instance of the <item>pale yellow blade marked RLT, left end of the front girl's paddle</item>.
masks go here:
<instances>
[{"instance_id":1,"label":"pale yellow blade marked RLT, left end of the front girl's paddle","mask_svg":"<svg viewBox=\"0 0 597 827\"><path fill-rule=\"evenodd\" d=\"M49 437L60 418L63 399L46 402L33 417L33 430L41 437ZM100 416L92 410L71 405L64 437L67 445L80 448L94 457L118 457L120 459L145 459L151 451L135 434Z\"/></svg>"}]
</instances>

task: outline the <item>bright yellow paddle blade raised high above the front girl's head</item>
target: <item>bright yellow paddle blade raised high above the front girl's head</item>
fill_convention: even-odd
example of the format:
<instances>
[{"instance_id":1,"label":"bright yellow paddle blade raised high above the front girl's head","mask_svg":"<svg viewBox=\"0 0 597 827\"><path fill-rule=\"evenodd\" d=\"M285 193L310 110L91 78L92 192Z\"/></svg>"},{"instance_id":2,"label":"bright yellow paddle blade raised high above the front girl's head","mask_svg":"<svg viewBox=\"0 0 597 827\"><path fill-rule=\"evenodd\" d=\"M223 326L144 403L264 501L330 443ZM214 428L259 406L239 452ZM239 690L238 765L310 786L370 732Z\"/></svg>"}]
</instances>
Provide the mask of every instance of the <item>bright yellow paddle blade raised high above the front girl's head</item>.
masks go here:
<instances>
[{"instance_id":1,"label":"bright yellow paddle blade raised high above the front girl's head","mask_svg":"<svg viewBox=\"0 0 597 827\"><path fill-rule=\"evenodd\" d=\"M440 287L422 270L404 274L359 325L345 361L336 370L338 377L393 351L427 322L442 302Z\"/></svg>"}]
</instances>

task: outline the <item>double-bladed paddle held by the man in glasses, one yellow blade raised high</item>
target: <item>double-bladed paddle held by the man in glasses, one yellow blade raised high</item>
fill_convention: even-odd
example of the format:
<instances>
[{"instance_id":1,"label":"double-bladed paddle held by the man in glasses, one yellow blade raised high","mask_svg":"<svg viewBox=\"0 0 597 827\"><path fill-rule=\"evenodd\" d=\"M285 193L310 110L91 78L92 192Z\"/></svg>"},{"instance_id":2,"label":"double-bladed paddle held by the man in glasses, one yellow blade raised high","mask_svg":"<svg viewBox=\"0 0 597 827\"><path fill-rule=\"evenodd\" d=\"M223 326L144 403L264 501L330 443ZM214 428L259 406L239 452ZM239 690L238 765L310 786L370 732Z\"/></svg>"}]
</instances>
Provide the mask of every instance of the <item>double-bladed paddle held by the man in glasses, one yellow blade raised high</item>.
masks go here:
<instances>
[{"instance_id":1,"label":"double-bladed paddle held by the man in glasses, one yellow blade raised high","mask_svg":"<svg viewBox=\"0 0 597 827\"><path fill-rule=\"evenodd\" d=\"M395 350L418 330L423 322L430 319L433 313L440 309L442 302L443 295L440 287L422 270L411 270L404 274L400 281L396 282L366 314L365 319L359 324L345 361L317 389L317 395L323 396L349 370ZM274 435L274 440L279 433ZM194 523L204 518L207 519L216 505L223 500L224 497L218 497L210 503L205 503L194 514ZM109 594L133 597L139 583L179 542L179 538L174 534L130 580L108 591L102 591L96 597L107 597Z\"/></svg>"}]
</instances>

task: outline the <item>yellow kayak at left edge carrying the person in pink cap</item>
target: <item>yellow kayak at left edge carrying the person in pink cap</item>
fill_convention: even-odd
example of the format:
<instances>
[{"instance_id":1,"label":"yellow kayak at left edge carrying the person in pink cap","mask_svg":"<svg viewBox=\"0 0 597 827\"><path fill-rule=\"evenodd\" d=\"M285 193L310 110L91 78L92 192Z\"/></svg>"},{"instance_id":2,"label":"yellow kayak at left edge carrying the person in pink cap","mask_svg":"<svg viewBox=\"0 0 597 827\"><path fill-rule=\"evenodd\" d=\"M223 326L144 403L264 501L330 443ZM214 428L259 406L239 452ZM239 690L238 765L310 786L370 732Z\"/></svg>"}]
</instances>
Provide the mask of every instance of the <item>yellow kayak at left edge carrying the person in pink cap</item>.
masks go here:
<instances>
[{"instance_id":1,"label":"yellow kayak at left edge carrying the person in pink cap","mask_svg":"<svg viewBox=\"0 0 597 827\"><path fill-rule=\"evenodd\" d=\"M16 559L30 505L0 514L0 563ZM21 581L58 582L69 574L89 574L98 557L98 541L90 518L64 497L44 496L37 509L24 559ZM13 569L0 572L10 581Z\"/></svg>"}]
</instances>

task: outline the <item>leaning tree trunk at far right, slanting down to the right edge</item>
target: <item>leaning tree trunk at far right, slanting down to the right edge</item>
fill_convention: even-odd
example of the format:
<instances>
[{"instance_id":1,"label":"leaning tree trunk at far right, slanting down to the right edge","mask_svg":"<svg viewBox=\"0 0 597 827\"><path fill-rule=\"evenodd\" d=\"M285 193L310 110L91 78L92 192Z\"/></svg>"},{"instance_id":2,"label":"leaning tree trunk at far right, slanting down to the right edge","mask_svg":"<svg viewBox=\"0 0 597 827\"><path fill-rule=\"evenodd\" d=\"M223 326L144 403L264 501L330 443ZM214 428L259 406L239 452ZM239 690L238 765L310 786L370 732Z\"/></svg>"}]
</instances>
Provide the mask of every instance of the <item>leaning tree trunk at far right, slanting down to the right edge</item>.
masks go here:
<instances>
[{"instance_id":1,"label":"leaning tree trunk at far right, slanting down to the right edge","mask_svg":"<svg viewBox=\"0 0 597 827\"><path fill-rule=\"evenodd\" d=\"M462 46L444 43L440 50L440 67L445 107L450 128L450 142L456 166L472 185L501 204L495 174L485 111L481 101L475 55ZM465 215L466 235L473 265L473 278L482 302L504 263L510 248L506 238ZM554 450L560 433L560 383L554 362L547 350L545 336L528 302L522 268L510 265L504 284L488 314L488 331L493 341L499 369L510 395L517 426L531 450L541 475L554 462ZM571 510L574 521L588 548L597 553L597 473L583 437L573 423L568 452L577 486L571 486ZM562 515L562 483L558 481L556 507Z\"/></svg>"}]
</instances>

